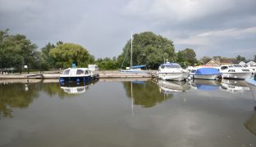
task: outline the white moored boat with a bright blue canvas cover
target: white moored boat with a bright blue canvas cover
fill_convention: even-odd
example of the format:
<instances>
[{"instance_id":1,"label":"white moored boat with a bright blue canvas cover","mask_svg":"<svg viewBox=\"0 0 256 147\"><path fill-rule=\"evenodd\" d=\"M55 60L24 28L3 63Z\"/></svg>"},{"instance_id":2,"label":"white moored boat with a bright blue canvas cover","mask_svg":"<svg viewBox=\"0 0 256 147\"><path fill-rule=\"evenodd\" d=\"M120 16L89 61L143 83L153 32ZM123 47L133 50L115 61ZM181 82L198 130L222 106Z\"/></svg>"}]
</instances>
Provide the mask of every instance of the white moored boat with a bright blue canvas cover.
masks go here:
<instances>
[{"instance_id":1,"label":"white moored boat with a bright blue canvas cover","mask_svg":"<svg viewBox=\"0 0 256 147\"><path fill-rule=\"evenodd\" d=\"M217 79L222 77L222 73L215 68L198 68L195 73L191 74L191 77L197 79Z\"/></svg>"}]
</instances>

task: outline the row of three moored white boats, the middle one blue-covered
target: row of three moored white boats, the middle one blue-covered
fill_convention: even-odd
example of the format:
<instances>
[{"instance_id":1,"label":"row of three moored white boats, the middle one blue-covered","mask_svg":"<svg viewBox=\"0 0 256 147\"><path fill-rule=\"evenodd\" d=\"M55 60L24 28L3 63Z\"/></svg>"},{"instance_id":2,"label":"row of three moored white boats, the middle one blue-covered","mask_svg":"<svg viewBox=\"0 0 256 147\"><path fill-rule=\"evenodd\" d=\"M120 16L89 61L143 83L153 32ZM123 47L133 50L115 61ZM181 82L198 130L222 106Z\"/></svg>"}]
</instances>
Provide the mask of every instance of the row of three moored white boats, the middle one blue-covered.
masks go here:
<instances>
[{"instance_id":1,"label":"row of three moored white boats, the middle one blue-covered","mask_svg":"<svg viewBox=\"0 0 256 147\"><path fill-rule=\"evenodd\" d=\"M246 79L252 77L253 72L241 65L222 65L221 67L190 67L182 69L177 63L164 63L159 66L157 77L163 80L182 81L185 79L208 79L219 78Z\"/></svg>"}]
</instances>

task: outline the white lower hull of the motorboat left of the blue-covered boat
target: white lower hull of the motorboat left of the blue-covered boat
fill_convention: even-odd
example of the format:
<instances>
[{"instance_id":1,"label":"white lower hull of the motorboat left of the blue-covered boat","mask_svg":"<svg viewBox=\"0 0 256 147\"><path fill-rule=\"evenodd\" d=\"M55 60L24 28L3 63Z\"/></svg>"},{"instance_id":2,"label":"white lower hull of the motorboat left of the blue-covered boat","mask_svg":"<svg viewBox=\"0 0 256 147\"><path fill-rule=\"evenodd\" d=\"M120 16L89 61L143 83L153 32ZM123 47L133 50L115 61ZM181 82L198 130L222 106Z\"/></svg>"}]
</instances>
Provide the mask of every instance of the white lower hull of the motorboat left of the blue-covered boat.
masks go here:
<instances>
[{"instance_id":1,"label":"white lower hull of the motorboat left of the blue-covered boat","mask_svg":"<svg viewBox=\"0 0 256 147\"><path fill-rule=\"evenodd\" d=\"M188 78L189 73L157 73L158 78L163 80L182 81Z\"/></svg>"}]
</instances>

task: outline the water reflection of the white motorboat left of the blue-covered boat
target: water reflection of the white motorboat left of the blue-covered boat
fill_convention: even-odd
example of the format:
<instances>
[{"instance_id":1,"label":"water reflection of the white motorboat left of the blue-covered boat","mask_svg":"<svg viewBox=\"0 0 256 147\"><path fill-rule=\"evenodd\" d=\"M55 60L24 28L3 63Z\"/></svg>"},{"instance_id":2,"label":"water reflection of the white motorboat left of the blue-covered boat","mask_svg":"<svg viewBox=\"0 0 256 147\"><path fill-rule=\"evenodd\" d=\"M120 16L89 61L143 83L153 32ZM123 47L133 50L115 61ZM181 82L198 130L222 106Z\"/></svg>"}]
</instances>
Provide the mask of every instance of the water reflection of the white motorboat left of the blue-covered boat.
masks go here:
<instances>
[{"instance_id":1,"label":"water reflection of the white motorboat left of the blue-covered boat","mask_svg":"<svg viewBox=\"0 0 256 147\"><path fill-rule=\"evenodd\" d=\"M159 90L163 94L171 94L176 91L187 91L190 85L185 81L158 80Z\"/></svg>"}]
</instances>

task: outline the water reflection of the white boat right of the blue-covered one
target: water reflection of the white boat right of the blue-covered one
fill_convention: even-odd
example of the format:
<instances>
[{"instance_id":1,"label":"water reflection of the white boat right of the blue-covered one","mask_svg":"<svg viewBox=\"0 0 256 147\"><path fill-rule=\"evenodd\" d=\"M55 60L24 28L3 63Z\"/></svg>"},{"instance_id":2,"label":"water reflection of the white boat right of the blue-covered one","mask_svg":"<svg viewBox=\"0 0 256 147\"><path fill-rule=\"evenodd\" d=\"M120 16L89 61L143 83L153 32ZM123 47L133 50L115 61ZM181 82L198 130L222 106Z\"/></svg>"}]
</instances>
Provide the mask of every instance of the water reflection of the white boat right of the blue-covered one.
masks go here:
<instances>
[{"instance_id":1,"label":"water reflection of the white boat right of the blue-covered one","mask_svg":"<svg viewBox=\"0 0 256 147\"><path fill-rule=\"evenodd\" d=\"M221 89L231 93L240 93L249 91L249 86L245 80L222 79Z\"/></svg>"}]
</instances>

